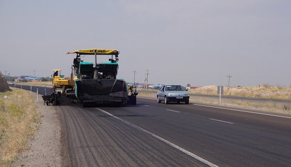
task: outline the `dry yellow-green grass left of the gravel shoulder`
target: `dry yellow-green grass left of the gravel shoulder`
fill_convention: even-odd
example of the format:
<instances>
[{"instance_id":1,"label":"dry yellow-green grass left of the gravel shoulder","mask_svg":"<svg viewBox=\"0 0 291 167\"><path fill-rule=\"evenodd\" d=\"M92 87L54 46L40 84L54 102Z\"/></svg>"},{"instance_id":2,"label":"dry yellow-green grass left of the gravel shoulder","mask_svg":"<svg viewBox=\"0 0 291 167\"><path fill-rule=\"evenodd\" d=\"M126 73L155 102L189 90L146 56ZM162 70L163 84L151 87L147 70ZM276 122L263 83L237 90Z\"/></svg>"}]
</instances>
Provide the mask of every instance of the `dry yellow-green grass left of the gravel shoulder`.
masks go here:
<instances>
[{"instance_id":1,"label":"dry yellow-green grass left of the gravel shoulder","mask_svg":"<svg viewBox=\"0 0 291 167\"><path fill-rule=\"evenodd\" d=\"M25 90L0 93L0 167L10 167L36 131L40 114Z\"/></svg>"}]
</instances>

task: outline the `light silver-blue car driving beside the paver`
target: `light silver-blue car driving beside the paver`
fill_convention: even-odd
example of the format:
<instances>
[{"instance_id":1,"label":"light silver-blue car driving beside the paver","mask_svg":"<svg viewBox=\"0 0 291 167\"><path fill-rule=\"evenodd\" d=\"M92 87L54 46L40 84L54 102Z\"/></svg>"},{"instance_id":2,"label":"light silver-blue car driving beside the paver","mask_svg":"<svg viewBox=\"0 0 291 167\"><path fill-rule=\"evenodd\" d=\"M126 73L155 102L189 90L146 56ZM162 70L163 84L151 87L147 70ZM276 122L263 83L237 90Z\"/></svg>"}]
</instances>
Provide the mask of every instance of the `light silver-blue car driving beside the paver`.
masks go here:
<instances>
[{"instance_id":1,"label":"light silver-blue car driving beside the paver","mask_svg":"<svg viewBox=\"0 0 291 167\"><path fill-rule=\"evenodd\" d=\"M189 104L189 93L181 85L163 85L157 92L157 100L158 103L164 100L165 104L172 101Z\"/></svg>"}]
</instances>

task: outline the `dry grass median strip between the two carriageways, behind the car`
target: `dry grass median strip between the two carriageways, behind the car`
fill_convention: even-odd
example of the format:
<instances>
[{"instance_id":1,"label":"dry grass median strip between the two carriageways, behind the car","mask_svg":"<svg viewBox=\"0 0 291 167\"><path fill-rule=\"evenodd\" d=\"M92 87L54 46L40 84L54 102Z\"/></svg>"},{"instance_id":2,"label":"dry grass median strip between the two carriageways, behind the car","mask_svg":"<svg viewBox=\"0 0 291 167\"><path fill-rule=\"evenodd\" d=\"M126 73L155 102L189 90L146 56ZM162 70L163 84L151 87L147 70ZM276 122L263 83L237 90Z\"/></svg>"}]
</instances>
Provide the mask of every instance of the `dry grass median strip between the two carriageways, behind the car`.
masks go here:
<instances>
[{"instance_id":1,"label":"dry grass median strip between the two carriageways, behind the car","mask_svg":"<svg viewBox=\"0 0 291 167\"><path fill-rule=\"evenodd\" d=\"M152 92L152 91L146 92L146 91L140 90L138 91L138 97L157 99L157 93ZM210 105L219 105L218 98L190 96L190 102L210 104ZM291 114L291 103L252 101L252 100L231 100L231 99L222 98L221 104L222 106L236 107L236 108L241 108L241 109Z\"/></svg>"}]
</instances>

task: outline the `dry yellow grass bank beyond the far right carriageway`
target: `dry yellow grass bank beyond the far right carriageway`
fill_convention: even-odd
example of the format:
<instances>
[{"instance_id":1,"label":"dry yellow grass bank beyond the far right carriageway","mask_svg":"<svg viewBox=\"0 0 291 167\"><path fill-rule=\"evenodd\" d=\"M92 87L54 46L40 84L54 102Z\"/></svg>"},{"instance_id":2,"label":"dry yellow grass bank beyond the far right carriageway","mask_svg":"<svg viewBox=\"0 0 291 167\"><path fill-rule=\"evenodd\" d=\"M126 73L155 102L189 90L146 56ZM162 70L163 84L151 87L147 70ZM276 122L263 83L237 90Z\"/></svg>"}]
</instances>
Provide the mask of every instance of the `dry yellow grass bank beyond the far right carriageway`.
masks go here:
<instances>
[{"instance_id":1,"label":"dry yellow grass bank beyond the far right carriageway","mask_svg":"<svg viewBox=\"0 0 291 167\"><path fill-rule=\"evenodd\" d=\"M217 95L217 86L203 86L189 90L191 94L207 94ZM272 86L267 83L262 86L247 86L247 87L224 87L224 95L226 96L241 96L254 98L268 99L291 99L291 88L284 86Z\"/></svg>"}]
</instances>

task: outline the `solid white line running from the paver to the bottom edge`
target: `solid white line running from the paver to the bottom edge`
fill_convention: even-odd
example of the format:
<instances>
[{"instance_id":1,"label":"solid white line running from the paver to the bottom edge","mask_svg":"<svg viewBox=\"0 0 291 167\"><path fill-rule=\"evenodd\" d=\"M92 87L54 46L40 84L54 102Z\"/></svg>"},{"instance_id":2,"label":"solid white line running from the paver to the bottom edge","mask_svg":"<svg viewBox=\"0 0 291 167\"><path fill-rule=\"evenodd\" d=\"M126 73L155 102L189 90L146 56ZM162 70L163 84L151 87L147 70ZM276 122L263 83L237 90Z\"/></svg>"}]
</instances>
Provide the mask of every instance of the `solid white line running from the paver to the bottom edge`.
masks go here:
<instances>
[{"instance_id":1,"label":"solid white line running from the paver to the bottom edge","mask_svg":"<svg viewBox=\"0 0 291 167\"><path fill-rule=\"evenodd\" d=\"M102 110L102 109L100 109L100 108L97 108L97 110L99 110L99 111L101 111L101 112L103 112L103 113L105 113L105 114L108 114L108 115L110 115L110 116L112 116L112 117L114 117L114 118L116 118L116 119L118 119L118 120L121 120L121 121L123 121L124 123L127 123L127 124L129 124L130 126L136 128L136 129L138 129L138 130L140 130L140 131L142 131L142 132L144 132L144 133L146 133L146 134L150 134L151 136L153 136L153 137L155 137L155 138L161 140L162 142L164 142L164 143L166 143L166 144L172 146L173 148L175 148L175 149L177 149L177 150L179 150L179 151L181 151L181 152L183 152L183 153L185 153L185 154L187 154L187 155L193 157L194 159L196 159L196 160L198 160L198 161L200 161L200 162L202 162L202 163L204 163L204 164L206 164L206 165L208 165L208 166L210 166L210 167L219 167L219 166L217 166L217 165L215 165L215 164L212 164L211 162L207 161L206 159L203 159L203 158L199 157L198 155L196 155L196 154L194 154L194 153L192 153L192 152L190 152L190 151L188 151L188 150L185 150L185 149L183 149L183 148L181 148L181 147L175 145L174 143L172 143L172 142L170 142L170 141L168 141L168 140L166 140L166 139L164 139L164 138L162 138L162 137L160 137L160 136L158 136L158 135L156 135L156 134L153 134L153 133L151 133L151 132L149 132L149 131L147 131L147 130L145 130L145 129L143 129L143 128L141 128L141 127L139 127L139 126L137 126L137 125L135 125L135 124L133 124L133 123L130 123L129 121L126 121L126 120L121 119L121 118L119 118L119 117L113 116L112 114L110 114L110 113L108 113L108 112L106 112L106 111L104 111L104 110Z\"/></svg>"}]
</instances>

